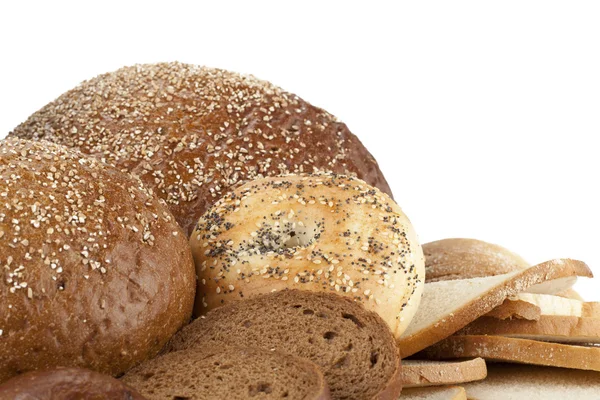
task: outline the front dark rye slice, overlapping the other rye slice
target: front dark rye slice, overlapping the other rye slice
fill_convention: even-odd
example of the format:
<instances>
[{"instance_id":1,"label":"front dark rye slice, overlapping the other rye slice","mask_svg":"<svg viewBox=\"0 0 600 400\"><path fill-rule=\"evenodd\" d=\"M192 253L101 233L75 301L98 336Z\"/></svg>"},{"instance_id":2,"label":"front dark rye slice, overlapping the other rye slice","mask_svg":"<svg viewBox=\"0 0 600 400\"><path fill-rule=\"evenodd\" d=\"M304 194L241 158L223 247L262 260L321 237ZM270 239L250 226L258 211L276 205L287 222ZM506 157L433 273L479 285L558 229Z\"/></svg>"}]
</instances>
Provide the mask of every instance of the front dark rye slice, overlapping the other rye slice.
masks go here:
<instances>
[{"instance_id":1,"label":"front dark rye slice, overlapping the other rye slice","mask_svg":"<svg viewBox=\"0 0 600 400\"><path fill-rule=\"evenodd\" d=\"M148 400L329 400L323 374L289 354L237 346L195 347L147 361L122 380Z\"/></svg>"}]
</instances>

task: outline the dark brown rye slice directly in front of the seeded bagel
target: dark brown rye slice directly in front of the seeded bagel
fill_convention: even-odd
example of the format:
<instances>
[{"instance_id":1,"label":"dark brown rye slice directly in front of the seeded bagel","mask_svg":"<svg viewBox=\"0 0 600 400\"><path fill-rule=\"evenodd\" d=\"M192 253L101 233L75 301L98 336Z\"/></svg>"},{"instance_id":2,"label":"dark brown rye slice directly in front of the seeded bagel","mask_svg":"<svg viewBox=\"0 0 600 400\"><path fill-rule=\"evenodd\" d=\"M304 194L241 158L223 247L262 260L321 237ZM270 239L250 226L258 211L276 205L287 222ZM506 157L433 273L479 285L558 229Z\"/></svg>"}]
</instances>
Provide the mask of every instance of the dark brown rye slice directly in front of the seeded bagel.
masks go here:
<instances>
[{"instance_id":1,"label":"dark brown rye slice directly in front of the seeded bagel","mask_svg":"<svg viewBox=\"0 0 600 400\"><path fill-rule=\"evenodd\" d=\"M284 290L210 311L167 350L241 344L285 351L321 367L334 399L396 399L402 389L394 337L377 314L333 293Z\"/></svg>"}]
</instances>

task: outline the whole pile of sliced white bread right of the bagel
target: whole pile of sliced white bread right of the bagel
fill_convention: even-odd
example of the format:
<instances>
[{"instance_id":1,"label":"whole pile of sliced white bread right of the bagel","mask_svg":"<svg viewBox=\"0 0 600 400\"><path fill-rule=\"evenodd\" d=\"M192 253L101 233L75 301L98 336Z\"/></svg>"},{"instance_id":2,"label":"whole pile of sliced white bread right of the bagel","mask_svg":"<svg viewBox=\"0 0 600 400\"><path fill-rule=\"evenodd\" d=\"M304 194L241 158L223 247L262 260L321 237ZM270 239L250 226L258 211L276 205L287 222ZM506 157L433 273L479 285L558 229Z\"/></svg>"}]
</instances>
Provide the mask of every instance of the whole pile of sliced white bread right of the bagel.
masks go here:
<instances>
[{"instance_id":1,"label":"whole pile of sliced white bread right of the bagel","mask_svg":"<svg viewBox=\"0 0 600 400\"><path fill-rule=\"evenodd\" d=\"M421 364L439 376L423 377L413 386L432 387L407 389L403 396L600 399L600 303L585 302L572 289L578 276L592 278L585 263L557 259L530 266L473 239L427 243L423 252L427 283L399 344L405 380L406 370ZM481 359L488 362L482 377L442 372ZM524 379L514 379L519 375Z\"/></svg>"}]
</instances>

